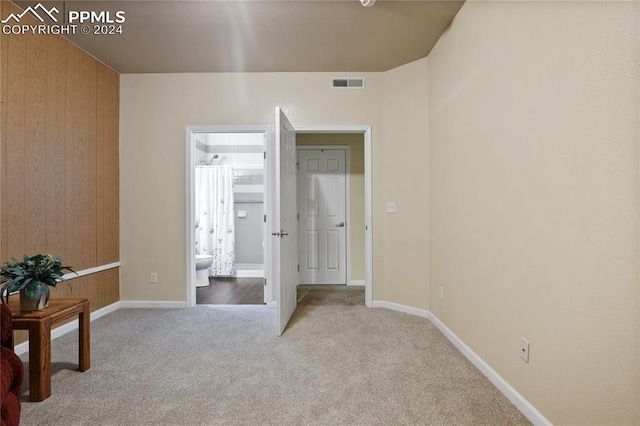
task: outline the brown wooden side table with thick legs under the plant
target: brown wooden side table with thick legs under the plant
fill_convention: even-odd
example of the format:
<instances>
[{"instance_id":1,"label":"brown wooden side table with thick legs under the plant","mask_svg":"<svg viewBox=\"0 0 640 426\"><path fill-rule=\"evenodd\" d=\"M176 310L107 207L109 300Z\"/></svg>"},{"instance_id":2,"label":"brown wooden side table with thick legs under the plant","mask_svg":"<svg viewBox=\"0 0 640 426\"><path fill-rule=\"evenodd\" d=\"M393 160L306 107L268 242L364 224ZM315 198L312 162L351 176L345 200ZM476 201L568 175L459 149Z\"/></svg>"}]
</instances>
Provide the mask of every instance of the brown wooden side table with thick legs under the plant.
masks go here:
<instances>
[{"instance_id":1,"label":"brown wooden side table with thick legs under the plant","mask_svg":"<svg viewBox=\"0 0 640 426\"><path fill-rule=\"evenodd\" d=\"M44 401L51 396L51 326L78 315L79 370L91 366L90 315L87 299L49 299L39 311L21 312L20 300L12 297L9 308L14 330L29 330L29 401Z\"/></svg>"}]
</instances>

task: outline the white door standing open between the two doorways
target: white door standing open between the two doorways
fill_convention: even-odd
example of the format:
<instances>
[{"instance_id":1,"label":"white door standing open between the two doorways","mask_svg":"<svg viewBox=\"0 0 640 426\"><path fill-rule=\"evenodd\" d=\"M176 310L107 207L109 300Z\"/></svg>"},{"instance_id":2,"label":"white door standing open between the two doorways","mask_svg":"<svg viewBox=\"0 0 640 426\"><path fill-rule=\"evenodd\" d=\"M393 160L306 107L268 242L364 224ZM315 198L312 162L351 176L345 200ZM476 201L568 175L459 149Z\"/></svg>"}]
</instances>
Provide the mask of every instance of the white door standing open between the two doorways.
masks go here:
<instances>
[{"instance_id":1,"label":"white door standing open between the two doorways","mask_svg":"<svg viewBox=\"0 0 640 426\"><path fill-rule=\"evenodd\" d=\"M276 211L273 262L278 336L284 332L297 306L298 224L296 220L296 133L276 107Z\"/></svg>"}]
</instances>

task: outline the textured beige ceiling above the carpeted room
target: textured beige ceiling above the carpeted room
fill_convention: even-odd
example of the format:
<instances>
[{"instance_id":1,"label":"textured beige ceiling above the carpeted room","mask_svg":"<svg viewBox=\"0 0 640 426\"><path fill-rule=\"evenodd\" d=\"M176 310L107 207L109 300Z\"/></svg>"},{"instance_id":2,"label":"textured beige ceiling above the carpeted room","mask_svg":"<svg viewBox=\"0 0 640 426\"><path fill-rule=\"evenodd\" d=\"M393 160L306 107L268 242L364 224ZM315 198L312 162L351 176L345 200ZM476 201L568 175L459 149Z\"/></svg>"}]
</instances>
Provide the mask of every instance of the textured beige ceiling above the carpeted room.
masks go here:
<instances>
[{"instance_id":1,"label":"textured beige ceiling above the carpeted room","mask_svg":"<svg viewBox=\"0 0 640 426\"><path fill-rule=\"evenodd\" d=\"M427 56L463 1L42 3L125 11L122 35L69 38L120 73L180 73L386 71Z\"/></svg>"}]
</instances>

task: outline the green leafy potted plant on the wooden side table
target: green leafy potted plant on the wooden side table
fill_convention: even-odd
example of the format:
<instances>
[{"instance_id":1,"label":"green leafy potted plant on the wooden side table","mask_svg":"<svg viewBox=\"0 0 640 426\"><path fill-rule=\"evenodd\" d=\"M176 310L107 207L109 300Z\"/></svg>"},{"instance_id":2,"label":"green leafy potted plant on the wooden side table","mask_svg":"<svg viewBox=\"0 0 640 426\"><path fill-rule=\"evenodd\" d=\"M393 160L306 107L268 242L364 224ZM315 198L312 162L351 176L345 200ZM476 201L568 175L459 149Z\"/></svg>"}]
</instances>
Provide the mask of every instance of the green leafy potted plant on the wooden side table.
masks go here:
<instances>
[{"instance_id":1,"label":"green leafy potted plant on the wooden side table","mask_svg":"<svg viewBox=\"0 0 640 426\"><path fill-rule=\"evenodd\" d=\"M67 281L64 272L75 271L70 266L62 266L62 258L50 254L24 256L22 262L15 258L0 269L0 298L9 303L9 295L20 292L20 310L36 311L49 306L49 286L55 287L60 281Z\"/></svg>"}]
</instances>

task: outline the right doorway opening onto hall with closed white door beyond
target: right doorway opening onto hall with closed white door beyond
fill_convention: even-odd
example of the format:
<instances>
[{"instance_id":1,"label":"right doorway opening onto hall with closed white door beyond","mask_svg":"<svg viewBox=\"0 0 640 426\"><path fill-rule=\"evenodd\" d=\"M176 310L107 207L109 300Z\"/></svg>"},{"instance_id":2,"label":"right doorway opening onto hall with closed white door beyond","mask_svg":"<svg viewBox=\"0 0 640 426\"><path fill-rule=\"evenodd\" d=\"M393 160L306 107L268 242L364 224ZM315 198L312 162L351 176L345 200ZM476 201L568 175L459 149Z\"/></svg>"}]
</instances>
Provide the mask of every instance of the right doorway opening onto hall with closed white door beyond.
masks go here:
<instances>
[{"instance_id":1,"label":"right doorway opening onto hall with closed white door beyond","mask_svg":"<svg viewBox=\"0 0 640 426\"><path fill-rule=\"evenodd\" d=\"M364 134L301 133L297 144L300 284L364 286ZM316 160L317 156L325 158ZM326 163L329 157L332 164ZM309 168L320 170L307 172ZM323 184L327 178L331 182ZM338 200L331 200L335 198ZM327 214L337 217L323 217ZM317 232L320 228L329 235ZM333 277L326 277L323 269Z\"/></svg>"}]
</instances>

